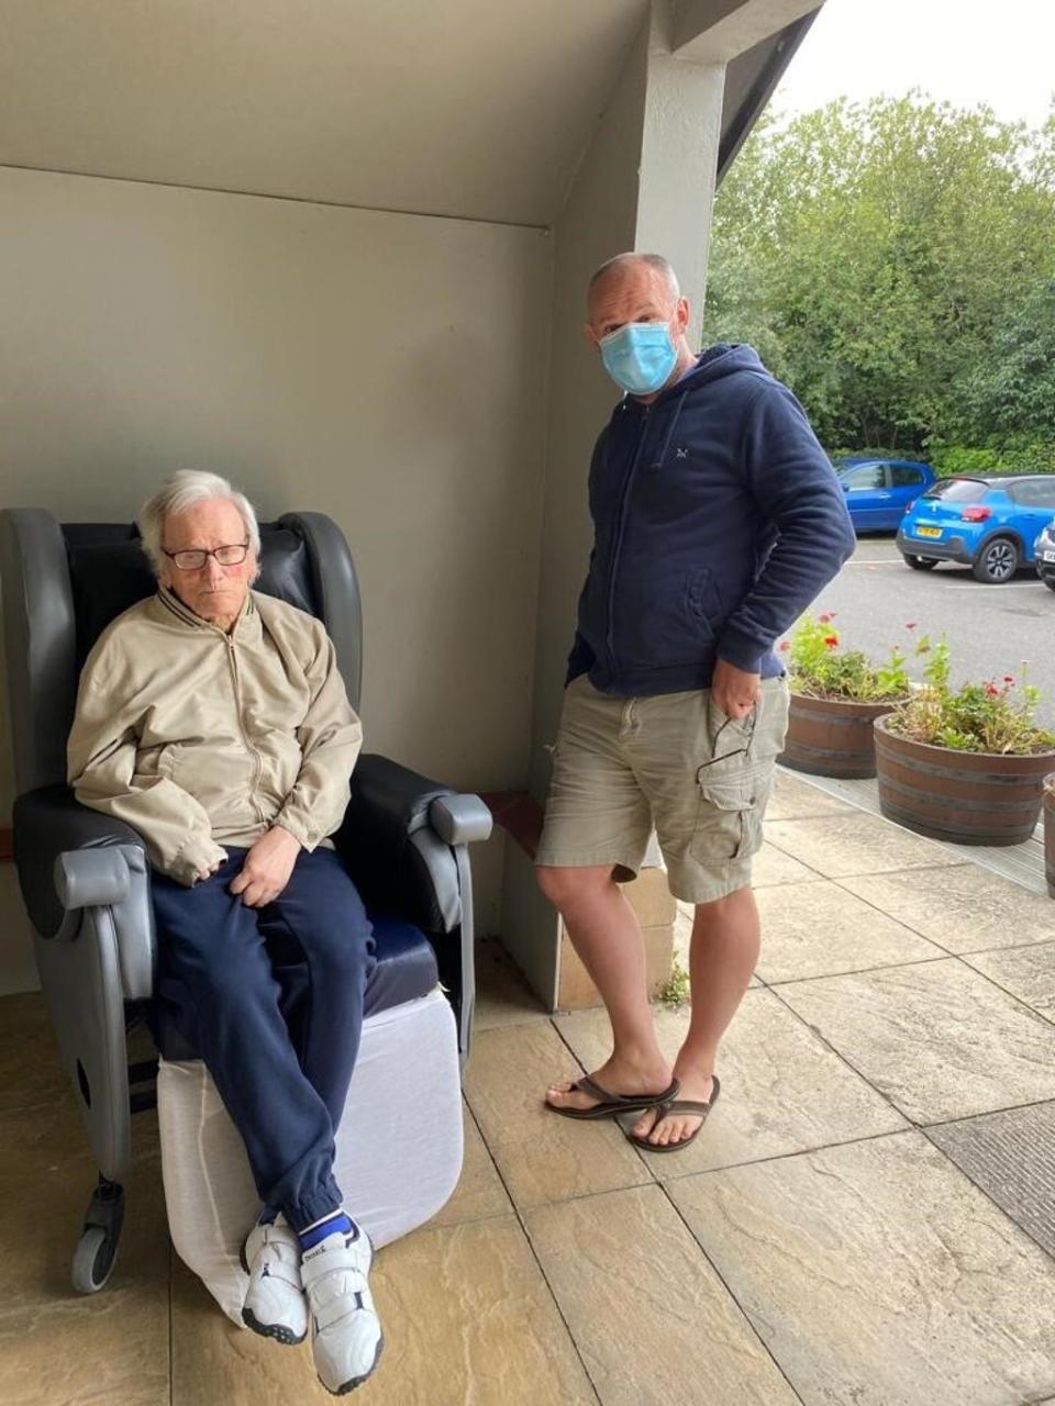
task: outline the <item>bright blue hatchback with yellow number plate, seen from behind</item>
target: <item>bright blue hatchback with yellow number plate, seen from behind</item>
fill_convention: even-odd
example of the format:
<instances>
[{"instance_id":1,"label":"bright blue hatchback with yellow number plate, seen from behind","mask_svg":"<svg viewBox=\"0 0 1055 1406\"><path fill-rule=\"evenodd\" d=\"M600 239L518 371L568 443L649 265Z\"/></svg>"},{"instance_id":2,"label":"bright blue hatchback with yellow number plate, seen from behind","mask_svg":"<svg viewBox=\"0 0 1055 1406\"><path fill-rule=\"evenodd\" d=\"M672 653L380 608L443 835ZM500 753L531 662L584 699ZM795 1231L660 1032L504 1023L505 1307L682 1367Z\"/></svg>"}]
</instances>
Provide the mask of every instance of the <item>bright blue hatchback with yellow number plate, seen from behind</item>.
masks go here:
<instances>
[{"instance_id":1,"label":"bright blue hatchback with yellow number plate, seen from behind","mask_svg":"<svg viewBox=\"0 0 1055 1406\"><path fill-rule=\"evenodd\" d=\"M909 509L897 550L914 571L958 561L976 581L996 586L1034 560L1034 543L1052 513L1055 474L958 474Z\"/></svg>"}]
</instances>

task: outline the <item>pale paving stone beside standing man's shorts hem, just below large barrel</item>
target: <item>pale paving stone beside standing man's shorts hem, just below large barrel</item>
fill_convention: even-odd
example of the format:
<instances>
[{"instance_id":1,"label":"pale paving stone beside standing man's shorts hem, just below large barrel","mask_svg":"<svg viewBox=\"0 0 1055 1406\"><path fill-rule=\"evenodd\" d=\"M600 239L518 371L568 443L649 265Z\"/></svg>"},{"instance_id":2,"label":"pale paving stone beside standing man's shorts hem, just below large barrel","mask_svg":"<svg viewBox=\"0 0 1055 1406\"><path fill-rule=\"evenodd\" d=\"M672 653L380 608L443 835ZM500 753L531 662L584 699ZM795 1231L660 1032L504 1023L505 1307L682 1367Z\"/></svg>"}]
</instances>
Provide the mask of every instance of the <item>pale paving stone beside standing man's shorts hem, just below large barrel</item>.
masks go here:
<instances>
[{"instance_id":1,"label":"pale paving stone beside standing man's shorts hem, just below large barrel","mask_svg":"<svg viewBox=\"0 0 1055 1406\"><path fill-rule=\"evenodd\" d=\"M816 820L778 820L767 825L767 837L826 879L962 862L933 839L862 811Z\"/></svg>"}]
</instances>

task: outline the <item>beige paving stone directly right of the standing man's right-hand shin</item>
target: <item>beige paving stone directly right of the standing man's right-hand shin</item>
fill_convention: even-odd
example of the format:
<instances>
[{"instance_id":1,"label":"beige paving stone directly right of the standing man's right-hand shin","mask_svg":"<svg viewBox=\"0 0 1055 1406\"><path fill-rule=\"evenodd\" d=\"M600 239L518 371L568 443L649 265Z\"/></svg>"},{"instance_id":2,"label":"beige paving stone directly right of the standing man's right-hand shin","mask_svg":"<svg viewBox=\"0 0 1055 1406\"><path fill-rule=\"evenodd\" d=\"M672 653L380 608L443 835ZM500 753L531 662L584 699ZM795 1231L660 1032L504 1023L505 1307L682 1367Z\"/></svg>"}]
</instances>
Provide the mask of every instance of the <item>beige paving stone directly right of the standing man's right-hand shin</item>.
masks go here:
<instances>
[{"instance_id":1,"label":"beige paving stone directly right of the standing man's right-hand shin","mask_svg":"<svg viewBox=\"0 0 1055 1406\"><path fill-rule=\"evenodd\" d=\"M758 974L768 986L945 955L830 880L761 889L757 900L762 918Z\"/></svg>"}]
</instances>

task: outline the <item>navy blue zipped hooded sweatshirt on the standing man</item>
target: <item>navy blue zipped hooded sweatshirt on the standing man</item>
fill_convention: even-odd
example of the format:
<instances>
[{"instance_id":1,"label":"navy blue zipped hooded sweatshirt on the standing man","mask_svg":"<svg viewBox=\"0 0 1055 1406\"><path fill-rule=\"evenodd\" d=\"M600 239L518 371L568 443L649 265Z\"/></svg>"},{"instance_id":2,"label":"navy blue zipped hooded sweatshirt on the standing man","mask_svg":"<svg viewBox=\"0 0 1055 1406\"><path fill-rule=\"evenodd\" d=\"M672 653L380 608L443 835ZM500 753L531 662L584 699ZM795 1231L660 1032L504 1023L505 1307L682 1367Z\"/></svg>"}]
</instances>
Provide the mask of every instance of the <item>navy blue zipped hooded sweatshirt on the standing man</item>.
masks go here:
<instances>
[{"instance_id":1,"label":"navy blue zipped hooded sweatshirt on the standing man","mask_svg":"<svg viewBox=\"0 0 1055 1406\"><path fill-rule=\"evenodd\" d=\"M589 467L594 551L568 682L619 697L772 676L774 644L854 550L827 456L748 346L710 347L650 405L627 395Z\"/></svg>"}]
</instances>

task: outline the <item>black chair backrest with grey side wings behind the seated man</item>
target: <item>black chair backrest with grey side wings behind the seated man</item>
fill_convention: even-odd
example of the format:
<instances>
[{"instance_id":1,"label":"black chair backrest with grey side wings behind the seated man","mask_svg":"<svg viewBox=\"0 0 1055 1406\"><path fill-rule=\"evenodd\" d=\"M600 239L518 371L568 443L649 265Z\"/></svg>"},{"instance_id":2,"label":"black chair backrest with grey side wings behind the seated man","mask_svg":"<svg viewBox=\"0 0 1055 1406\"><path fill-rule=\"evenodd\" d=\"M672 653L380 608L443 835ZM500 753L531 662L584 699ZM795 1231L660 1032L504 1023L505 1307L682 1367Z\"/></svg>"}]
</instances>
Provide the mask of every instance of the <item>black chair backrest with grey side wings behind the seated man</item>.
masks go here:
<instances>
[{"instance_id":1,"label":"black chair backrest with grey side wings behind the seated man","mask_svg":"<svg viewBox=\"0 0 1055 1406\"><path fill-rule=\"evenodd\" d=\"M41 508L0 512L0 588L15 786L66 779L66 737L80 668L113 619L151 595L153 575L134 526L60 524ZM324 513L260 524L257 591L326 626L347 696L359 709L363 616L345 534Z\"/></svg>"}]
</instances>

